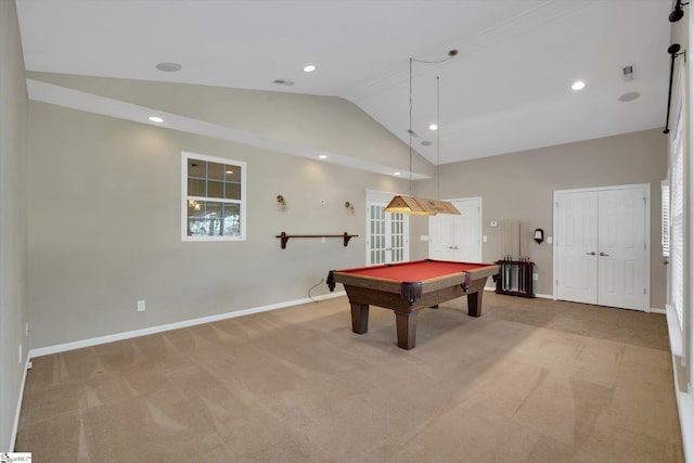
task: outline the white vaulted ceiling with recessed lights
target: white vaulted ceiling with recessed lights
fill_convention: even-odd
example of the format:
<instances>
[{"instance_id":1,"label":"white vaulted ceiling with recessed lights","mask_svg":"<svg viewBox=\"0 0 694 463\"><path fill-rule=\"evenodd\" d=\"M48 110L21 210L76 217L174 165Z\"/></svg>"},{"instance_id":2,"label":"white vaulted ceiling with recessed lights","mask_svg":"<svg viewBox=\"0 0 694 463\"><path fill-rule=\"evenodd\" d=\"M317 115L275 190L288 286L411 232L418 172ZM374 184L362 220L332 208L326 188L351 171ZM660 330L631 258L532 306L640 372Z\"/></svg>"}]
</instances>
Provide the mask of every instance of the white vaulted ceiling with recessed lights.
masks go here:
<instances>
[{"instance_id":1,"label":"white vaulted ceiling with recessed lights","mask_svg":"<svg viewBox=\"0 0 694 463\"><path fill-rule=\"evenodd\" d=\"M665 126L670 0L17 0L17 10L27 70L336 95L406 143L410 59L455 49L412 64L412 143L434 164ZM183 67L163 73L160 62ZM308 63L318 69L304 73ZM439 150L427 129L437 76ZM632 91L640 98L618 101Z\"/></svg>"}]
</instances>

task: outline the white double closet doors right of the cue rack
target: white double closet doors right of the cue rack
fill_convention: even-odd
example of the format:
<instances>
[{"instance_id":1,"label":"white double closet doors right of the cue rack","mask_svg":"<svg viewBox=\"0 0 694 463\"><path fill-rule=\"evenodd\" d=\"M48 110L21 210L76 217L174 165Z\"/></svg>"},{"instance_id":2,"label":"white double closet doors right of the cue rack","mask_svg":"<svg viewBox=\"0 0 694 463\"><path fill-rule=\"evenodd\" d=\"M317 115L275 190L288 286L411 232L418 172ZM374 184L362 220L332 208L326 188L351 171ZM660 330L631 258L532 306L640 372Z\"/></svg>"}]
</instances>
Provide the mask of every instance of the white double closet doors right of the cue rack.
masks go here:
<instances>
[{"instance_id":1,"label":"white double closet doors right of the cue rack","mask_svg":"<svg viewBox=\"0 0 694 463\"><path fill-rule=\"evenodd\" d=\"M648 184L554 193L555 297L648 310Z\"/></svg>"}]
</instances>

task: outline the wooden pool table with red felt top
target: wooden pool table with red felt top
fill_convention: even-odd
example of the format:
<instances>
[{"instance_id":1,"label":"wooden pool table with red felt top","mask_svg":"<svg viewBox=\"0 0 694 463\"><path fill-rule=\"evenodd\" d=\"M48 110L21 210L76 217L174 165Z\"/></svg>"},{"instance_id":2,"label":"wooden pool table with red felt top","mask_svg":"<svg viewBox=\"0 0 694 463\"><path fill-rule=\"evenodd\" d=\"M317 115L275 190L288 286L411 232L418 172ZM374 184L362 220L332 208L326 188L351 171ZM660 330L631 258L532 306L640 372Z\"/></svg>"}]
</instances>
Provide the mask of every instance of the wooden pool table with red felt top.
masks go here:
<instances>
[{"instance_id":1,"label":"wooden pool table with red felt top","mask_svg":"<svg viewBox=\"0 0 694 463\"><path fill-rule=\"evenodd\" d=\"M467 314L481 314L481 296L488 276L494 280L499 266L492 263L416 260L348 270L331 270L327 287L342 283L351 306L351 330L369 329L369 306L395 311L398 347L412 349L416 336L416 314L424 308L467 296Z\"/></svg>"}]
</instances>

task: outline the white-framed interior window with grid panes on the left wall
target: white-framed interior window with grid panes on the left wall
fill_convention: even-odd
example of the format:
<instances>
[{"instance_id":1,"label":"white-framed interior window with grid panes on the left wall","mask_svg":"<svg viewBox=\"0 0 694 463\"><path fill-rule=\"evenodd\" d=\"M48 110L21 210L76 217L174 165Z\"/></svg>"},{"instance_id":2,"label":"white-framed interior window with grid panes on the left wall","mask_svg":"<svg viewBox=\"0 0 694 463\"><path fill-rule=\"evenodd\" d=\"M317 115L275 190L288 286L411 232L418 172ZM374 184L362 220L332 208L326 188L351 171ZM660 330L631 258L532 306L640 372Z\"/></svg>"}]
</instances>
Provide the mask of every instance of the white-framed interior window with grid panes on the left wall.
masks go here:
<instances>
[{"instance_id":1,"label":"white-framed interior window with grid panes on the left wall","mask_svg":"<svg viewBox=\"0 0 694 463\"><path fill-rule=\"evenodd\" d=\"M246 163L181 153L181 240L245 241Z\"/></svg>"}]
</instances>

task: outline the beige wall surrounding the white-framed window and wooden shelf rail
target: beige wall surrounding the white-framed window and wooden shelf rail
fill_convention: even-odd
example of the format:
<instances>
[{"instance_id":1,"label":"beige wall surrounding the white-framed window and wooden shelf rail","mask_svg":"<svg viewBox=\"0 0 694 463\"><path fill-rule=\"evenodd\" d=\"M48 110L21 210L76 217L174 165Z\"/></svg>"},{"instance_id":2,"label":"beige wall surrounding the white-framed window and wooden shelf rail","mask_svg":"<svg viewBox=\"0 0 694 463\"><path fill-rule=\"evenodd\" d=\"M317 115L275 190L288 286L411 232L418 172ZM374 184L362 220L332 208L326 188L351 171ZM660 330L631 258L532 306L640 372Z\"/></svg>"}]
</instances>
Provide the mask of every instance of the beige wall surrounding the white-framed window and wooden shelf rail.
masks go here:
<instances>
[{"instance_id":1,"label":"beige wall surrounding the white-framed window and wooden shelf rail","mask_svg":"<svg viewBox=\"0 0 694 463\"><path fill-rule=\"evenodd\" d=\"M306 298L329 270L364 263L364 190L406 185L46 103L30 103L29 118L35 348ZM247 163L247 241L181 242L181 151ZM348 247L291 240L282 250L282 231L360 236ZM311 294L326 292L320 284Z\"/></svg>"}]
</instances>

